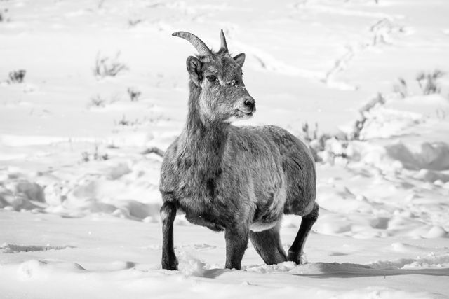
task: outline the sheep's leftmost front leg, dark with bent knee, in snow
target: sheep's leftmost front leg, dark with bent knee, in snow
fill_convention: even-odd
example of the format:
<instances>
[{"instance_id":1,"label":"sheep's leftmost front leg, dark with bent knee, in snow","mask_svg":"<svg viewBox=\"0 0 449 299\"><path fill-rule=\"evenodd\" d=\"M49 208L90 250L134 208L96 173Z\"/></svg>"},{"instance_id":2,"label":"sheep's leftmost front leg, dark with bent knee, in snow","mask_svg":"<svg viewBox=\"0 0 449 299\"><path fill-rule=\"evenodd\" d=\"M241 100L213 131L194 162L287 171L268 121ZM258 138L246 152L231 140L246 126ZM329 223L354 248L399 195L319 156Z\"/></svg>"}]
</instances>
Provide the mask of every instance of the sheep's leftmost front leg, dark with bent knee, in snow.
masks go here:
<instances>
[{"instance_id":1,"label":"sheep's leftmost front leg, dark with bent knee, in snow","mask_svg":"<svg viewBox=\"0 0 449 299\"><path fill-rule=\"evenodd\" d=\"M171 201L163 202L162 219L162 268L177 270L177 259L173 248L173 221L176 217L176 206Z\"/></svg>"}]
</instances>

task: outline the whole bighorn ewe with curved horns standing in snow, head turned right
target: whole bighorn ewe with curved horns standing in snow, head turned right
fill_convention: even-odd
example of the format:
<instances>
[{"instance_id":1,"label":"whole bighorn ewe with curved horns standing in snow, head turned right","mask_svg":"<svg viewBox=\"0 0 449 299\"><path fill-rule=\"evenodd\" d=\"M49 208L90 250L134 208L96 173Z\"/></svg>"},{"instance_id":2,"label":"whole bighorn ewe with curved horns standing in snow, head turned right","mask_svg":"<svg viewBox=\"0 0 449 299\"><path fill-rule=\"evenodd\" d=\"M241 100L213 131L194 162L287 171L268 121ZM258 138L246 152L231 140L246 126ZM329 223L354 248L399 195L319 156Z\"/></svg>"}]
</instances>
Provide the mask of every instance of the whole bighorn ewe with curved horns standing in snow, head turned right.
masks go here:
<instances>
[{"instance_id":1,"label":"whole bighorn ewe with curved horns standing in snow, head turned right","mask_svg":"<svg viewBox=\"0 0 449 299\"><path fill-rule=\"evenodd\" d=\"M309 149L280 127L230 124L253 116L255 100L242 80L245 54L229 55L223 32L218 52L189 32L173 36L192 43L199 55L187 58L189 114L161 167L163 269L177 269L173 221L178 209L191 223L225 230L227 268L240 269L248 238L267 264L302 263L319 211ZM279 238L283 214L302 216L288 255Z\"/></svg>"}]
</instances>

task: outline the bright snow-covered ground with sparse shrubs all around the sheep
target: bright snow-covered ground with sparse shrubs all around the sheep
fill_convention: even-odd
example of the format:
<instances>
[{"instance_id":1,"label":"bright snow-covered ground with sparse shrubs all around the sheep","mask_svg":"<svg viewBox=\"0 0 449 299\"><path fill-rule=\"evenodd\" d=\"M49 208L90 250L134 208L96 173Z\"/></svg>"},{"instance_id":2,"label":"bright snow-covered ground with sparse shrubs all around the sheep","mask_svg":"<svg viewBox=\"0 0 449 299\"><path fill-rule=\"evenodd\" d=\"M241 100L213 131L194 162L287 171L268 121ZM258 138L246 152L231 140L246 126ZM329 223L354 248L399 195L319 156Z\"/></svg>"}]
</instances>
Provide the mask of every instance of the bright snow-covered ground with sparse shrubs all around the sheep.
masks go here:
<instances>
[{"instance_id":1,"label":"bright snow-covered ground with sparse shrubs all around the sheep","mask_svg":"<svg viewBox=\"0 0 449 299\"><path fill-rule=\"evenodd\" d=\"M1 297L449 297L448 15L445 0L0 1ZM305 265L249 245L224 270L224 235L178 216L180 271L161 270L161 158L142 152L185 122L194 48L171 33L217 49L220 29L247 55L246 124L317 152ZM126 69L95 76L104 57ZM286 248L299 224L284 218Z\"/></svg>"}]
</instances>

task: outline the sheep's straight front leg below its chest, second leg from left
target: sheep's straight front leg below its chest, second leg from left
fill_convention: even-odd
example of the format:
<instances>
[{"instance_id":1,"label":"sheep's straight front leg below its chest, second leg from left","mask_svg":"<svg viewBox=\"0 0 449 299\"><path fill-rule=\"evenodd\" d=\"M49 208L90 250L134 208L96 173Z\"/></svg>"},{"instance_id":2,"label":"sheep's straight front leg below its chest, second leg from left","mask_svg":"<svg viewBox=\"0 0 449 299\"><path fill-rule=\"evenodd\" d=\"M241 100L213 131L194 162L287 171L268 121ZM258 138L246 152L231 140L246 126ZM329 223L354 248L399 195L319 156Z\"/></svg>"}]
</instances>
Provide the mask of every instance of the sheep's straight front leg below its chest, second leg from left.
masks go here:
<instances>
[{"instance_id":1,"label":"sheep's straight front leg below its chest, second leg from left","mask_svg":"<svg viewBox=\"0 0 449 299\"><path fill-rule=\"evenodd\" d=\"M240 270L241 260L248 246L248 228L226 228L226 267Z\"/></svg>"}]
</instances>

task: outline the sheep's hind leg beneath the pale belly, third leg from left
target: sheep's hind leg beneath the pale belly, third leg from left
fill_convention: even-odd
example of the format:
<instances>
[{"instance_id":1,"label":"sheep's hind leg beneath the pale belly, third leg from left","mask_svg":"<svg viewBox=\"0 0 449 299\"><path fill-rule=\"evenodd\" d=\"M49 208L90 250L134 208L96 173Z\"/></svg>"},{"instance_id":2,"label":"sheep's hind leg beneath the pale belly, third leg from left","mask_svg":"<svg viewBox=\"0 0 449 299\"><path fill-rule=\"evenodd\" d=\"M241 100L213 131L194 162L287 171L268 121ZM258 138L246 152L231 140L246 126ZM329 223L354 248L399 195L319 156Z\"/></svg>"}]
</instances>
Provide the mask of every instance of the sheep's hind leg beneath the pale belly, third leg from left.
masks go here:
<instances>
[{"instance_id":1,"label":"sheep's hind leg beneath the pale belly, third leg from left","mask_svg":"<svg viewBox=\"0 0 449 299\"><path fill-rule=\"evenodd\" d=\"M278 223L269 230L250 231L251 243L267 265L275 265L287 260L286 252L282 248L281 238L279 237L280 227L281 225Z\"/></svg>"}]
</instances>

